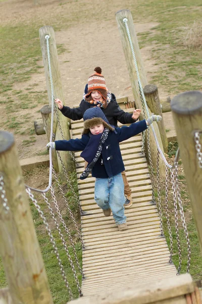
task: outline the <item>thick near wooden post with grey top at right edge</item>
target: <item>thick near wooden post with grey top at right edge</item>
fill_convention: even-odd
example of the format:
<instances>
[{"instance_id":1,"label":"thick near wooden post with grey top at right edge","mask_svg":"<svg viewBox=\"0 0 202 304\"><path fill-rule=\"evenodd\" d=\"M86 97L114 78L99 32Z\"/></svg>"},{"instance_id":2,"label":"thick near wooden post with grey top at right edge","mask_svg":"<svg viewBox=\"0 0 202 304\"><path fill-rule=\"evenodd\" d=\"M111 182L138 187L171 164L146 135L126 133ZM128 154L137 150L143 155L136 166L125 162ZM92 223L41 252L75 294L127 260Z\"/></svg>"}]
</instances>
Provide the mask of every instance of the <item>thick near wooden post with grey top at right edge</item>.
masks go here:
<instances>
[{"instance_id":1,"label":"thick near wooden post with grey top at right edge","mask_svg":"<svg viewBox=\"0 0 202 304\"><path fill-rule=\"evenodd\" d=\"M175 96L171 101L171 110L202 252L202 168L198 165L193 136L195 130L202 132L202 93L189 91Z\"/></svg>"}]
</instances>

